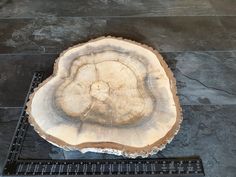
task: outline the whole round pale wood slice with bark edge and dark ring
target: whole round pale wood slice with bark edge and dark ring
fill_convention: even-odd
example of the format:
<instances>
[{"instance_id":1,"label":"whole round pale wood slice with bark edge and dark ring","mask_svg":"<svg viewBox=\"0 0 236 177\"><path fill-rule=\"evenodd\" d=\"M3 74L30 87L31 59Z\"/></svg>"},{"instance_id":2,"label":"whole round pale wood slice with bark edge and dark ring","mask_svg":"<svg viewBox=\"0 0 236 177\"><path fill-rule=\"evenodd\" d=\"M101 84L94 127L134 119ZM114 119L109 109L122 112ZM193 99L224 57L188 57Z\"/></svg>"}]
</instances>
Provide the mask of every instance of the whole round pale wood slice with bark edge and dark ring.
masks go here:
<instances>
[{"instance_id":1,"label":"whole round pale wood slice with bark edge and dark ring","mask_svg":"<svg viewBox=\"0 0 236 177\"><path fill-rule=\"evenodd\" d=\"M30 95L29 121L66 150L156 153L182 121L173 74L157 51L101 37L64 51Z\"/></svg>"}]
</instances>

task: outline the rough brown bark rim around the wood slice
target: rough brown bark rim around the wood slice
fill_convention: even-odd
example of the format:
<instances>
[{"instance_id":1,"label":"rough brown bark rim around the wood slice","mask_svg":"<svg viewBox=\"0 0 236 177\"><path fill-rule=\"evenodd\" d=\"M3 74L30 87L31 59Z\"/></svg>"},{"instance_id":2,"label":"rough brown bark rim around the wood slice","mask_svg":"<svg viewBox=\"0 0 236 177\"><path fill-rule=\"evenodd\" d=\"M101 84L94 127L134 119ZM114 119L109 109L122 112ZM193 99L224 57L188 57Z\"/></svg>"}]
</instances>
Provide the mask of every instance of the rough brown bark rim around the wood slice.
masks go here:
<instances>
[{"instance_id":1,"label":"rough brown bark rim around the wood slice","mask_svg":"<svg viewBox=\"0 0 236 177\"><path fill-rule=\"evenodd\" d=\"M176 122L163 138L159 139L158 141L156 141L155 143L151 145L147 145L144 147L132 147L132 146L122 145L122 144L114 143L114 142L87 142L87 143L82 143L78 145L70 145L54 136L46 134L35 122L34 117L31 114L31 104L32 104L32 100L33 100L35 92L39 90L42 86L44 86L47 82L49 82L53 77L56 76L58 63L61 56L63 56L66 52L68 52L69 50L75 47L79 47L86 43L98 41L104 38L113 38L117 40L123 40L123 41L133 43L133 44L139 45L141 47L144 47L150 50L157 56L161 66L164 68L166 75L170 81L170 86L171 86L170 89L171 89L173 99L176 105L176 112L177 112ZM123 156L135 158L137 156L147 157L148 155L155 154L158 151L165 148L166 144L170 143L173 137L178 133L180 129L180 124L183 118L182 118L182 109L180 107L179 98L177 96L176 80L174 78L172 71L170 70L170 68L168 67L165 60L162 58L162 56L159 54L159 52L145 44L141 44L141 43L129 40L129 39L124 39L122 37L102 36L96 39L89 40L86 43L74 45L72 47L69 47L67 50L64 50L59 55L59 57L55 60L53 74L50 77L48 77L46 80L44 80L42 83L40 83L39 86L34 89L34 92L29 96L29 101L26 104L27 105L26 112L29 114L29 118L28 118L29 123L34 127L35 131L38 132L38 134L45 140L65 150L80 150L82 152L87 152L93 149L94 152L105 152L105 153L117 154L117 155L123 155Z\"/></svg>"}]
</instances>

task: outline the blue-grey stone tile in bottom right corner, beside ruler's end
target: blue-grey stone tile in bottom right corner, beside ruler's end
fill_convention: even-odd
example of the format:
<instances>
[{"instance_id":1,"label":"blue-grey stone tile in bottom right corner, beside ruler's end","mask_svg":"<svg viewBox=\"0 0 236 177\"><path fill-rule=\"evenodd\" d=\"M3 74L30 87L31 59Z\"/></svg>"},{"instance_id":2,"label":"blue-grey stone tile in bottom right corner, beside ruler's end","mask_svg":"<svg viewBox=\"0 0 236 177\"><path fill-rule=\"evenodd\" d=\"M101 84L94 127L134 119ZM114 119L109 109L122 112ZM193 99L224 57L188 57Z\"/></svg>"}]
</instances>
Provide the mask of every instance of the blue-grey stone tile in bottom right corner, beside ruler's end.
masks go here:
<instances>
[{"instance_id":1,"label":"blue-grey stone tile in bottom right corner, beside ruler's end","mask_svg":"<svg viewBox=\"0 0 236 177\"><path fill-rule=\"evenodd\" d=\"M184 106L180 132L162 154L200 155L206 177L235 177L235 115L235 105Z\"/></svg>"}]
</instances>

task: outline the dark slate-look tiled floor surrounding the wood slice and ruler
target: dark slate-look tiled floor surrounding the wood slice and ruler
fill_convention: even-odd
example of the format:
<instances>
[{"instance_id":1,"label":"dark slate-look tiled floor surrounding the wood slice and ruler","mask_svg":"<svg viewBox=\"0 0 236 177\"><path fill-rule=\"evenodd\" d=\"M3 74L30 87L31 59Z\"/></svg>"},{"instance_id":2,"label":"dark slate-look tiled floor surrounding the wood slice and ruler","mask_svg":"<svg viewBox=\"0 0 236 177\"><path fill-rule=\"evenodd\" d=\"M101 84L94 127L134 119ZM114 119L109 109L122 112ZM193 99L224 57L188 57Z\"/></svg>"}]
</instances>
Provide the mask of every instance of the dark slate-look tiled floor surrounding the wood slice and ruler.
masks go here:
<instances>
[{"instance_id":1,"label":"dark slate-look tiled floor surrounding the wood slice and ruler","mask_svg":"<svg viewBox=\"0 0 236 177\"><path fill-rule=\"evenodd\" d=\"M50 75L60 52L102 35L154 47L174 72L184 121L162 155L199 155L207 177L235 177L235 0L1 0L0 174L32 73ZM24 158L75 158L33 130L25 141Z\"/></svg>"}]
</instances>

